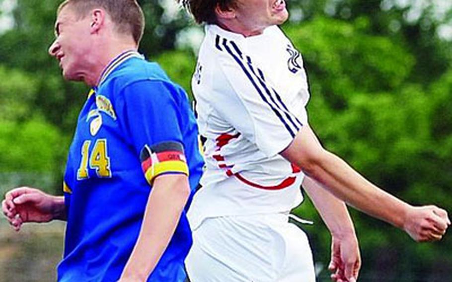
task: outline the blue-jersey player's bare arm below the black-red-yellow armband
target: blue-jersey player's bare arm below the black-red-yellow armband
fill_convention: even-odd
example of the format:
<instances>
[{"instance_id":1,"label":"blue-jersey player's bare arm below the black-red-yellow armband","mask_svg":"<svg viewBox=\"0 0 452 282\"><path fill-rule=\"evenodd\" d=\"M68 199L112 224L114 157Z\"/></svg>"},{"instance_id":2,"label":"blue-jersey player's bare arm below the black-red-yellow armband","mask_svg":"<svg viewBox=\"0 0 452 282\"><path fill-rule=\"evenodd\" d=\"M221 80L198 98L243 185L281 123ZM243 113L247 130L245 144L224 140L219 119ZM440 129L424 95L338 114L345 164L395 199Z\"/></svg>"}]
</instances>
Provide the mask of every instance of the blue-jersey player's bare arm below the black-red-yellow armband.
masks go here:
<instances>
[{"instance_id":1,"label":"blue-jersey player's bare arm below the black-red-yellow armband","mask_svg":"<svg viewBox=\"0 0 452 282\"><path fill-rule=\"evenodd\" d=\"M160 175L155 179L140 235L120 281L148 279L169 244L189 195L186 175Z\"/></svg>"}]
</instances>

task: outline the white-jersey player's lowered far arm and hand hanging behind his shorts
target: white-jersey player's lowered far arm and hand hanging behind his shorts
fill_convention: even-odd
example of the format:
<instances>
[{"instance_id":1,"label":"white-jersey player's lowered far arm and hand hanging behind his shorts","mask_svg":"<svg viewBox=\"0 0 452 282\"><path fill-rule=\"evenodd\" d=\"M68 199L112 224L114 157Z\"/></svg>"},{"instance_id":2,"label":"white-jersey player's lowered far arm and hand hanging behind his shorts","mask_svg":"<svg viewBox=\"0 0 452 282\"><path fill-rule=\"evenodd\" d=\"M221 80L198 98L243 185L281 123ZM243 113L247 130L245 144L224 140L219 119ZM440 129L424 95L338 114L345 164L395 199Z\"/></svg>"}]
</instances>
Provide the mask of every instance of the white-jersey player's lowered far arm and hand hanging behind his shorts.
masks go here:
<instances>
[{"instance_id":1,"label":"white-jersey player's lowered far arm and hand hanging behind his shorts","mask_svg":"<svg viewBox=\"0 0 452 282\"><path fill-rule=\"evenodd\" d=\"M303 180L303 188L331 232L331 262L329 270L334 281L358 279L361 256L355 228L345 203L310 177Z\"/></svg>"}]
</instances>

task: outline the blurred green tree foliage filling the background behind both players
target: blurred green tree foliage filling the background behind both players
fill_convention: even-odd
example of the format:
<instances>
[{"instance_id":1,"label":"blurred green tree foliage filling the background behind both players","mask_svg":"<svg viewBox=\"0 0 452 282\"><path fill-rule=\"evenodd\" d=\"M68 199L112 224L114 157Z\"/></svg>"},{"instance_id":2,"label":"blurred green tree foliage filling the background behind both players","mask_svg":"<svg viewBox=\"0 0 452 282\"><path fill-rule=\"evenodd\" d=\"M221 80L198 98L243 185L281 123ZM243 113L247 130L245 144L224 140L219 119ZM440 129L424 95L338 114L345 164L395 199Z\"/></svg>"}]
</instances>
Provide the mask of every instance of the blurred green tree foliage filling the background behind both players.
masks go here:
<instances>
[{"instance_id":1,"label":"blurred green tree foliage filling the background behind both players","mask_svg":"<svg viewBox=\"0 0 452 282\"><path fill-rule=\"evenodd\" d=\"M15 24L0 34L0 190L28 184L61 193L87 87L64 81L47 54L59 2L17 0ZM140 51L190 92L195 55L175 46L193 21L165 9L167 1L139 2L147 20ZM325 147L396 196L452 211L452 44L438 36L452 10L438 11L437 4L289 0L292 16L283 29L303 54L309 119ZM321 221L308 200L296 212ZM386 223L352 215L363 255L360 281L452 280L451 236L415 244ZM328 231L320 223L304 228L315 260L326 267ZM325 270L320 277L329 280Z\"/></svg>"}]
</instances>

